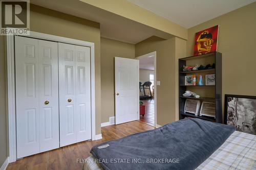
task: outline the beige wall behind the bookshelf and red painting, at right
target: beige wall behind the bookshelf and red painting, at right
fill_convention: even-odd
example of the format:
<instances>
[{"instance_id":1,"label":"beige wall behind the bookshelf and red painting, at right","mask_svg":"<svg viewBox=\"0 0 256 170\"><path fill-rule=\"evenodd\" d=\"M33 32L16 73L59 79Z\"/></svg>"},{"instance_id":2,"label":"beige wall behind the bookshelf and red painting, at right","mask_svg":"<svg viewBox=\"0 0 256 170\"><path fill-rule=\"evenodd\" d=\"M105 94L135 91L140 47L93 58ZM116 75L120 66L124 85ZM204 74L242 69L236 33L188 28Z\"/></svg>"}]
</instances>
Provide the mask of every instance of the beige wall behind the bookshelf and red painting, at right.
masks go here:
<instances>
[{"instance_id":1,"label":"beige wall behind the bookshelf and red painting, at right","mask_svg":"<svg viewBox=\"0 0 256 170\"><path fill-rule=\"evenodd\" d=\"M195 33L219 25L222 93L256 95L256 3L188 29L187 55L193 55ZM223 100L224 104L224 100Z\"/></svg>"}]
</instances>

